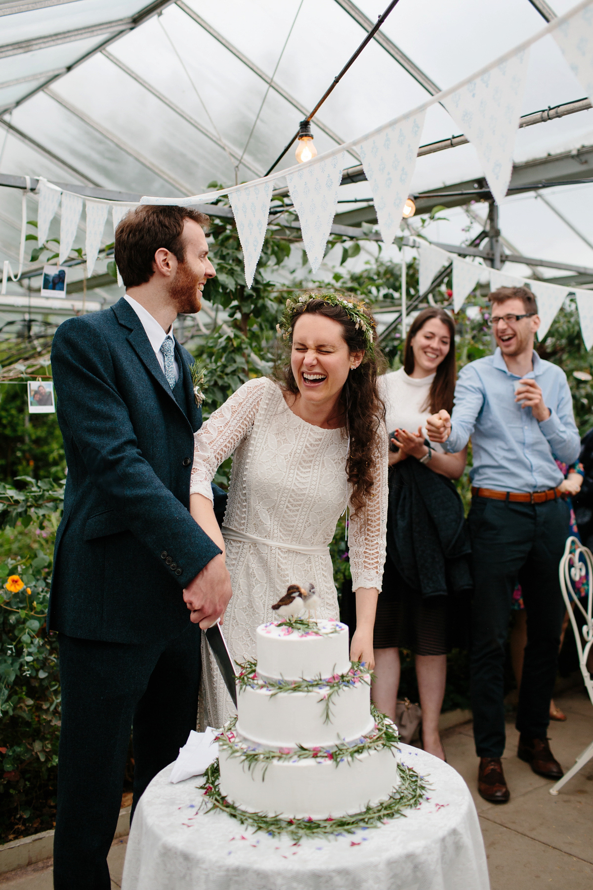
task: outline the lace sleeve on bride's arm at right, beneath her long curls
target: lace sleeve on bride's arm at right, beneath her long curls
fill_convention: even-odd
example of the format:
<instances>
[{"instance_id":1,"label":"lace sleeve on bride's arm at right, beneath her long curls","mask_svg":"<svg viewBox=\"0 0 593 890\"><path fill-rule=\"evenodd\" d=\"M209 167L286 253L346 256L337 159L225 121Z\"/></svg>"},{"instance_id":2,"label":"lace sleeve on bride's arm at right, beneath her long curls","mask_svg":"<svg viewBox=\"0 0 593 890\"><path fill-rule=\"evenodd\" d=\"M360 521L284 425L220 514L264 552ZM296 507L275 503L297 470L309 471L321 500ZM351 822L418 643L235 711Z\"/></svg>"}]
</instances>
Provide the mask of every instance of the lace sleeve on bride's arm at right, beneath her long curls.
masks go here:
<instances>
[{"instance_id":1,"label":"lace sleeve on bride's arm at right, beneath her long curls","mask_svg":"<svg viewBox=\"0 0 593 890\"><path fill-rule=\"evenodd\" d=\"M349 554L352 589L376 587L381 593L388 505L388 440L382 423L377 433L377 450L373 495L350 517Z\"/></svg>"}]
</instances>

